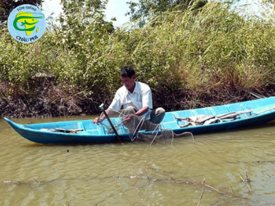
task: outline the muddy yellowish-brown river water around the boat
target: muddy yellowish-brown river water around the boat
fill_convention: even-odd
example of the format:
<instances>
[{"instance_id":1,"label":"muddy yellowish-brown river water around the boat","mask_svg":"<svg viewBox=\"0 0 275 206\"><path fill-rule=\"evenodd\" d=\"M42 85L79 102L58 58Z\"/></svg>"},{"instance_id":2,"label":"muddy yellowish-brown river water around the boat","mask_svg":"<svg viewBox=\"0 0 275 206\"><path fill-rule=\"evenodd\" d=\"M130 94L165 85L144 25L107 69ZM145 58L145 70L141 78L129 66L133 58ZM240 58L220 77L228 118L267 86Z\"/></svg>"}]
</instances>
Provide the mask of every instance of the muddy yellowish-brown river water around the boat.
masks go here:
<instances>
[{"instance_id":1,"label":"muddy yellowish-brown river water around the boat","mask_svg":"<svg viewBox=\"0 0 275 206\"><path fill-rule=\"evenodd\" d=\"M275 122L152 146L49 146L0 126L2 206L275 205Z\"/></svg>"}]
</instances>

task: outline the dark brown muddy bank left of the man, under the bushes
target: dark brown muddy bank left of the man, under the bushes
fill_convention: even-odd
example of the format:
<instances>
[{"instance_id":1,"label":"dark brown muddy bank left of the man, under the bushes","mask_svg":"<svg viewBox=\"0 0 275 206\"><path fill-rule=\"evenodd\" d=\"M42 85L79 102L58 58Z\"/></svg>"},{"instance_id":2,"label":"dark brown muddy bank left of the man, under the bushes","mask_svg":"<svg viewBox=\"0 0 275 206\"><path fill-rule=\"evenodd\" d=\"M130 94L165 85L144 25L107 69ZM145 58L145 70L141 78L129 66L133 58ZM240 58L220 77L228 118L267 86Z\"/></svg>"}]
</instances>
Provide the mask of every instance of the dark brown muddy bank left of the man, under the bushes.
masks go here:
<instances>
[{"instance_id":1,"label":"dark brown muddy bank left of the man, under the bushes","mask_svg":"<svg viewBox=\"0 0 275 206\"><path fill-rule=\"evenodd\" d=\"M106 99L106 94L89 95L81 87L56 85L51 78L33 80L28 92L2 82L0 93L0 116L10 118L91 115L100 112L98 102Z\"/></svg>"}]
</instances>

